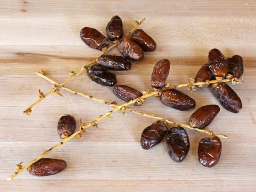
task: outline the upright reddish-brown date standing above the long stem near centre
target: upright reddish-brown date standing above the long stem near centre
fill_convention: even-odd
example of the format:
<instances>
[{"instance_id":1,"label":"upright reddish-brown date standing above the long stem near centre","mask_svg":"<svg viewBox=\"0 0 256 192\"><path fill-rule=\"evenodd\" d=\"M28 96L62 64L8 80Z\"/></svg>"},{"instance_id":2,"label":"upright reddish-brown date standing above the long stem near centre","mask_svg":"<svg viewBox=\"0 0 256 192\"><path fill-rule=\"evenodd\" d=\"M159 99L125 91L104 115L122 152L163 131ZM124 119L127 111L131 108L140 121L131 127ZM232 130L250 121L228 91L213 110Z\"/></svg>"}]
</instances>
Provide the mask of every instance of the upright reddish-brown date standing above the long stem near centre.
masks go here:
<instances>
[{"instance_id":1,"label":"upright reddish-brown date standing above the long stem near centre","mask_svg":"<svg viewBox=\"0 0 256 192\"><path fill-rule=\"evenodd\" d=\"M170 71L170 61L162 59L158 61L151 75L151 86L155 89L162 89Z\"/></svg>"}]
</instances>

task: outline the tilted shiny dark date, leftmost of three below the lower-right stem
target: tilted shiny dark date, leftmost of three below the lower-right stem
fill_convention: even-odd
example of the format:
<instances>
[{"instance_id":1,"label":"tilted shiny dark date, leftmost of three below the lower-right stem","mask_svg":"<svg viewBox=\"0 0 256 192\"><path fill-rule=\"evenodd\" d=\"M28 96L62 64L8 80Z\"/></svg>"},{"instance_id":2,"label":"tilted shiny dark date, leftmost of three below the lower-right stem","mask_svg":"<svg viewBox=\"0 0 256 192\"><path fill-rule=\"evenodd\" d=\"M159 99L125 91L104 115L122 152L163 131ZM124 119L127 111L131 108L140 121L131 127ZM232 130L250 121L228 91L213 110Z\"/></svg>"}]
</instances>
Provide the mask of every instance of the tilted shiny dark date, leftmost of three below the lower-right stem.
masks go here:
<instances>
[{"instance_id":1,"label":"tilted shiny dark date, leftmost of three below the lower-right stem","mask_svg":"<svg viewBox=\"0 0 256 192\"><path fill-rule=\"evenodd\" d=\"M161 142L168 128L166 122L156 121L145 128L141 134L140 145L143 149L150 149Z\"/></svg>"}]
</instances>

